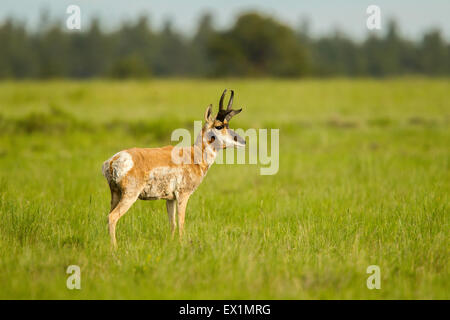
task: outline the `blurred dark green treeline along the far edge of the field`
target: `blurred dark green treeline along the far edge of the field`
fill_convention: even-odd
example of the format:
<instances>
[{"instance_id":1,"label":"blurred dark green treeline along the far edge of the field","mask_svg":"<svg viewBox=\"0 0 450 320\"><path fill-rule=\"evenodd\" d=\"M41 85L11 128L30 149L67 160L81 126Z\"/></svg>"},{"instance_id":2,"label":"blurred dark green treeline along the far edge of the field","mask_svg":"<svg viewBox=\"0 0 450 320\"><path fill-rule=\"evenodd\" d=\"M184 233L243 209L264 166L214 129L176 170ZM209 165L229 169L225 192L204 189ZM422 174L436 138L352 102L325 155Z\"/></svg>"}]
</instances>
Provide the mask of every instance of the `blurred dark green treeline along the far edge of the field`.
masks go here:
<instances>
[{"instance_id":1,"label":"blurred dark green treeline along the far edge of the field","mask_svg":"<svg viewBox=\"0 0 450 320\"><path fill-rule=\"evenodd\" d=\"M450 45L438 30L411 41L391 22L382 36L354 41L339 32L314 38L307 29L257 13L227 30L205 15L192 37L170 22L153 30L145 17L113 32L98 20L82 32L48 22L30 32L10 19L0 25L0 78L450 74Z\"/></svg>"}]
</instances>

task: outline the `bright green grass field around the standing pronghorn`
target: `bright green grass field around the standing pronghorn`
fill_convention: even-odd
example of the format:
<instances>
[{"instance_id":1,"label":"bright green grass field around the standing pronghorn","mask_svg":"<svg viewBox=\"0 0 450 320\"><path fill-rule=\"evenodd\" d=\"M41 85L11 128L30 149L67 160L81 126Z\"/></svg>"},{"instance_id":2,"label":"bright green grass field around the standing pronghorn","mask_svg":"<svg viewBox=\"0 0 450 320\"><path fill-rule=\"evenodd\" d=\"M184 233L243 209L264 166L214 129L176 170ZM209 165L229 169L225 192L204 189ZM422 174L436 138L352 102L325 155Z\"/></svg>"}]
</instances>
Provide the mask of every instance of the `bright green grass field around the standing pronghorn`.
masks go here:
<instances>
[{"instance_id":1,"label":"bright green grass field around the standing pronghorn","mask_svg":"<svg viewBox=\"0 0 450 320\"><path fill-rule=\"evenodd\" d=\"M223 88L244 108L233 128L280 129L278 173L214 165L181 241L164 201L138 201L112 252L103 161L170 144ZM425 78L2 82L0 298L449 299L449 92Z\"/></svg>"}]
</instances>

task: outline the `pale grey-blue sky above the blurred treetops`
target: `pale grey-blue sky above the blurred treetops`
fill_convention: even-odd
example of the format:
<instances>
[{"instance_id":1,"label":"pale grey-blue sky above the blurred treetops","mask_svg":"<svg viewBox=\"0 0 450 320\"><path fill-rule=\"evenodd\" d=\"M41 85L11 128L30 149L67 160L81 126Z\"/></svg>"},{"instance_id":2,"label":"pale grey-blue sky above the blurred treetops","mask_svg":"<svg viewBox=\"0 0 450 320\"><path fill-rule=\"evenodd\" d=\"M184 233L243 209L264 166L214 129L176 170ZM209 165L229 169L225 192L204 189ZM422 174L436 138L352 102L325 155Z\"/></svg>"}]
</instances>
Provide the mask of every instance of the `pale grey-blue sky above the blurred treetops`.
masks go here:
<instances>
[{"instance_id":1,"label":"pale grey-blue sky above the blurred treetops","mask_svg":"<svg viewBox=\"0 0 450 320\"><path fill-rule=\"evenodd\" d=\"M292 27L307 17L315 35L338 28L355 38L367 33L366 8L375 4L381 8L382 25L393 17L401 33L410 38L436 27L450 39L450 0L0 0L0 22L14 16L33 29L37 27L41 10L48 8L51 17L63 23L70 4L80 6L82 28L88 26L93 16L99 17L103 26L114 28L124 20L133 21L147 15L155 28L170 18L177 30L192 33L202 13L212 13L215 26L225 28L240 12L257 10Z\"/></svg>"}]
</instances>

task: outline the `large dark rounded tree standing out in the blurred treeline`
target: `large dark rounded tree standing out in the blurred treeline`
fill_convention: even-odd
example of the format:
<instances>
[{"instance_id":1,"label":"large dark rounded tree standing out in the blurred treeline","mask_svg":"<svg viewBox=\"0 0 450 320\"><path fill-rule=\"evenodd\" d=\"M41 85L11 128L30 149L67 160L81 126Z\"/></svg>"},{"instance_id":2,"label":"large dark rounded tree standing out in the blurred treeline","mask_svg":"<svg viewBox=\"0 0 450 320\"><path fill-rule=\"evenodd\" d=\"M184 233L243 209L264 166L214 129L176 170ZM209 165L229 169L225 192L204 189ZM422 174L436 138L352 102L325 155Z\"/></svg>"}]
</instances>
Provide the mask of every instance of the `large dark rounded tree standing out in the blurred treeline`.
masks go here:
<instances>
[{"instance_id":1,"label":"large dark rounded tree standing out in the blurred treeline","mask_svg":"<svg viewBox=\"0 0 450 320\"><path fill-rule=\"evenodd\" d=\"M292 29L256 13L240 16L231 30L209 44L214 75L299 76L306 73L305 49Z\"/></svg>"}]
</instances>

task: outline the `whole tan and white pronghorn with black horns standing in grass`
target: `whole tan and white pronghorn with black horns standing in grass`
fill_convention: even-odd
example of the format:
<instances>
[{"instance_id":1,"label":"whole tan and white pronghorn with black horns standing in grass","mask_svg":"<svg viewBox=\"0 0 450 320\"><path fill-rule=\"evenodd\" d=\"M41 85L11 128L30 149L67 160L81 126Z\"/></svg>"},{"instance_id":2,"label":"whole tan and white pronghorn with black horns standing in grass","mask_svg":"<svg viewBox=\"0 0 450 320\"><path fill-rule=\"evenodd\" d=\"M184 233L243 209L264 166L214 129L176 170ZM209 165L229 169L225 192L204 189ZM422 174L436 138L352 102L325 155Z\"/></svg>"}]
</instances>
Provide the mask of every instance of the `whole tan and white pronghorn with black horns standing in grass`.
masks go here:
<instances>
[{"instance_id":1,"label":"whole tan and white pronghorn with black horns standing in grass","mask_svg":"<svg viewBox=\"0 0 450 320\"><path fill-rule=\"evenodd\" d=\"M243 147L245 140L229 129L233 116L234 92L231 90L227 109L223 108L226 89L219 101L219 112L211 114L212 105L205 112L205 124L194 145L184 148L132 148L120 151L103 163L102 171L111 189L111 210L108 216L109 233L116 246L116 224L137 199L166 200L172 236L176 228L183 233L186 205L191 194L202 182L220 149ZM175 157L174 157L175 155ZM174 158L181 159L173 161Z\"/></svg>"}]
</instances>

